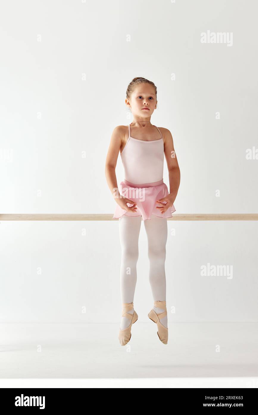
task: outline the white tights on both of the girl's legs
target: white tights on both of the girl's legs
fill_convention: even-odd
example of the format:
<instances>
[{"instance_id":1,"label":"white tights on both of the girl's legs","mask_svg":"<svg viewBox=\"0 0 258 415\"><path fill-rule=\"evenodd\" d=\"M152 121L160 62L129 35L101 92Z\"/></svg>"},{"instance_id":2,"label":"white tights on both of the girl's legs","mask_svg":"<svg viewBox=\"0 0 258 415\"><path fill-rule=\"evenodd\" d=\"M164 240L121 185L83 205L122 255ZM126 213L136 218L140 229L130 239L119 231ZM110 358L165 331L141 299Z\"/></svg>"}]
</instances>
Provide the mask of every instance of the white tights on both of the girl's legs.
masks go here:
<instances>
[{"instance_id":1,"label":"white tights on both of the girl's legs","mask_svg":"<svg viewBox=\"0 0 258 415\"><path fill-rule=\"evenodd\" d=\"M149 282L154 301L166 300L165 258L167 243L167 218L151 215L150 220L144 220L148 239ZM122 303L133 303L137 281L136 263L139 257L139 233L141 216L126 216L119 218L119 237L122 249L120 288ZM159 313L164 309L154 307ZM129 311L134 313L134 309ZM128 327L130 320L122 317L120 329ZM167 327L167 316L160 322Z\"/></svg>"}]
</instances>

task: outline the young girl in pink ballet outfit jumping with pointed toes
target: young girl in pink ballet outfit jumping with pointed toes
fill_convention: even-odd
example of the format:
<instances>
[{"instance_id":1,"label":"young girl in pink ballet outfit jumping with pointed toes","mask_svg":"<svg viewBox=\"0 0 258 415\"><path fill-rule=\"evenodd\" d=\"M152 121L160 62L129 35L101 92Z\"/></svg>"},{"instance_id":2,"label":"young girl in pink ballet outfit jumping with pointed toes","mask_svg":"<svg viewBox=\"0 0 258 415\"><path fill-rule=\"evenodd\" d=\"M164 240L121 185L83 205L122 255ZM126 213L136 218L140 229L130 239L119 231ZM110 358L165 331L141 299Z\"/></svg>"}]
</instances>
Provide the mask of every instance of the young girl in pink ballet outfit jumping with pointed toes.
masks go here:
<instances>
[{"instance_id":1,"label":"young girl in pink ballet outfit jumping with pointed toes","mask_svg":"<svg viewBox=\"0 0 258 415\"><path fill-rule=\"evenodd\" d=\"M138 319L133 301L138 241L143 220L148 239L149 282L154 300L148 317L157 324L160 341L167 344L167 218L175 212L173 203L179 188L180 170L170 131L150 124L150 117L158 103L154 83L145 78L134 78L128 85L126 97L125 103L134 118L128 126L119 125L113 130L105 164L108 187L117 203L113 219L119 219L122 248L122 320L118 337L122 346L127 344L131 338L131 326ZM124 166L121 193L115 174L119 150ZM164 154L169 171L170 193L163 182Z\"/></svg>"}]
</instances>

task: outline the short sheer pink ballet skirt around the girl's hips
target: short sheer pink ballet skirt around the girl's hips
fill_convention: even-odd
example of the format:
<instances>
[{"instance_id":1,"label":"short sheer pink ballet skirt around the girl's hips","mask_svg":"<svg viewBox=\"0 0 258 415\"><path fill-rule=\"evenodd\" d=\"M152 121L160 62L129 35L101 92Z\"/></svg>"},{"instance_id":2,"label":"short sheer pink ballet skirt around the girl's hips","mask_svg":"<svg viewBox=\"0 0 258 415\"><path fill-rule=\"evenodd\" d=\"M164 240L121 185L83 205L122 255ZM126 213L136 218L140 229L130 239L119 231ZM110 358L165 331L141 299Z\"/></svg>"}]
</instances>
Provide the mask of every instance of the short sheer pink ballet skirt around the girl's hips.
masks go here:
<instances>
[{"instance_id":1,"label":"short sheer pink ballet skirt around the girl's hips","mask_svg":"<svg viewBox=\"0 0 258 415\"><path fill-rule=\"evenodd\" d=\"M175 212L174 205L166 210L165 213L161 213L160 204L156 203L156 200L165 198L169 194L167 185L163 182L163 179L154 183L135 184L124 180L120 183L119 192L127 199L133 200L136 203L136 212L127 212L122 209L118 204L115 208L115 213L112 219L119 219L119 217L126 216L142 216L143 220L151 219L151 215L158 217L172 217L172 213ZM162 202L166 204L166 202ZM133 206L131 203L127 203L127 206Z\"/></svg>"}]
</instances>

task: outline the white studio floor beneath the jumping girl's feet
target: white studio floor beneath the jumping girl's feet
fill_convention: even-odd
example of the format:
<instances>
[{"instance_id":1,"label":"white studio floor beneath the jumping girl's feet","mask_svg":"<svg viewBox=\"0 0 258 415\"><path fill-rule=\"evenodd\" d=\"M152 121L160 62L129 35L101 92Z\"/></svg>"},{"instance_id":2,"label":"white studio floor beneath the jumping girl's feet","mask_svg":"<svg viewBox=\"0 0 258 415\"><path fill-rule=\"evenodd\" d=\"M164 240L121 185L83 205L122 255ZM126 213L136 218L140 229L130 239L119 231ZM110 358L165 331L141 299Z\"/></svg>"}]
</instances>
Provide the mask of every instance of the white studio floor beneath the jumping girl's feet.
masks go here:
<instances>
[{"instance_id":1,"label":"white studio floor beneath the jumping girl's feet","mask_svg":"<svg viewBox=\"0 0 258 415\"><path fill-rule=\"evenodd\" d=\"M257 323L170 323L168 344L162 344L153 322L137 321L122 347L117 323L2 323L0 378L4 387L13 378L111 379L114 385L124 378L118 387L130 379L139 379L141 387L145 378L151 387L159 378L160 386L257 388L257 328Z\"/></svg>"}]
</instances>

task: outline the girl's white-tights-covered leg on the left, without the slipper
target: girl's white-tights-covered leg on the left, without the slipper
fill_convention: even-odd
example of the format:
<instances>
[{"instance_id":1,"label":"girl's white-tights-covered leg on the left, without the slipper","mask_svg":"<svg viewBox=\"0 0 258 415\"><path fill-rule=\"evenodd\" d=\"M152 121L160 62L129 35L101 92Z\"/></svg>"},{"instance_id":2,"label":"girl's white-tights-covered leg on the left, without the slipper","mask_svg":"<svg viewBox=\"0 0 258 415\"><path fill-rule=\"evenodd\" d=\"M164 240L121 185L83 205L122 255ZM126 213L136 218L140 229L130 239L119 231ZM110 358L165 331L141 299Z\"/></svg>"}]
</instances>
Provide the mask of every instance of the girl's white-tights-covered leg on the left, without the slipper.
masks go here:
<instances>
[{"instance_id":1,"label":"girl's white-tights-covered leg on the left, without the slipper","mask_svg":"<svg viewBox=\"0 0 258 415\"><path fill-rule=\"evenodd\" d=\"M120 288L122 303L134 302L134 291L137 281L136 263L139 257L139 234L141 229L141 216L126 216L119 218L119 237L122 249ZM129 311L133 314L134 309ZM129 326L131 321L122 317L120 329Z\"/></svg>"}]
</instances>

